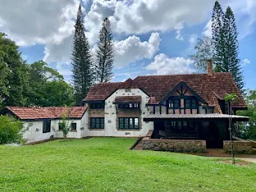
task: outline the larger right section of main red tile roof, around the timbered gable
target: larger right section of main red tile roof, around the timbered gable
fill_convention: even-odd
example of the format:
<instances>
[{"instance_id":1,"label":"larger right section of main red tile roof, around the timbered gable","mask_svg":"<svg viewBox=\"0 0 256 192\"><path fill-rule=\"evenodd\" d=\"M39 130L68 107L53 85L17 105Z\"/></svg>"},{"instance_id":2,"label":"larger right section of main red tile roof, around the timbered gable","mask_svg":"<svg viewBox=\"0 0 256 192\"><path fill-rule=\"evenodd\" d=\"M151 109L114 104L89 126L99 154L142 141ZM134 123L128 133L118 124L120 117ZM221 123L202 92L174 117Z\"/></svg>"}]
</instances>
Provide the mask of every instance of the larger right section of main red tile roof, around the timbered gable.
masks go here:
<instances>
[{"instance_id":1,"label":"larger right section of main red tile roof, around the timbered gable","mask_svg":"<svg viewBox=\"0 0 256 192\"><path fill-rule=\"evenodd\" d=\"M154 102L160 102L181 81L189 85L209 106L215 106L217 98L235 93L238 101L233 107L247 107L240 90L230 73L190 74L190 75L148 75L135 78L135 84L144 90ZM218 96L218 97L217 97Z\"/></svg>"}]
</instances>

